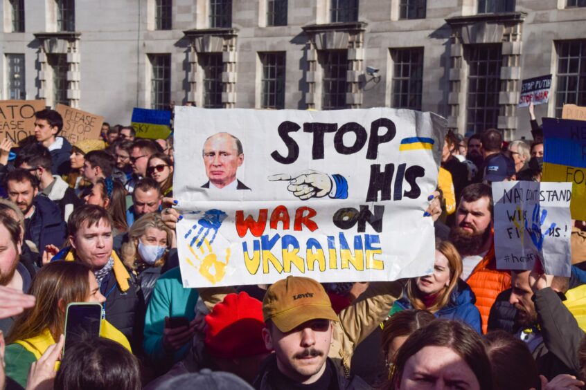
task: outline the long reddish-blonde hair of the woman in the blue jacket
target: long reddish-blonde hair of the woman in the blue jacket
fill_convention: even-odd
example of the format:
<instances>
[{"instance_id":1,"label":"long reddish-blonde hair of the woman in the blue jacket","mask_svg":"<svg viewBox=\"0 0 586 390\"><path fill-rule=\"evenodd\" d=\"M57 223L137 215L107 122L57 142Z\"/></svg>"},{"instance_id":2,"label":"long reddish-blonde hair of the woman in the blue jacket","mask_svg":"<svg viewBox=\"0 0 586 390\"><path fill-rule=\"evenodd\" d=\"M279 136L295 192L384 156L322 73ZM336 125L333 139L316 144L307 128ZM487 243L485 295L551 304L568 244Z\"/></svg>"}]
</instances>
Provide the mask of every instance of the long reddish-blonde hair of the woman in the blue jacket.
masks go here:
<instances>
[{"instance_id":1,"label":"long reddish-blonde hair of the woman in the blue jacket","mask_svg":"<svg viewBox=\"0 0 586 390\"><path fill-rule=\"evenodd\" d=\"M456 288L460 275L462 275L462 259L454 244L449 241L436 240L436 250L445 256L448 267L450 268L450 284L447 288L443 289L443 292L438 299L436 299L436 302L429 308L426 308L425 304L423 304L423 301L419 297L419 289L415 283L416 278L411 278L407 281L407 297L409 297L409 301L413 308L428 310L432 313L440 310L448 301L450 301L450 295L452 295L452 291Z\"/></svg>"}]
</instances>

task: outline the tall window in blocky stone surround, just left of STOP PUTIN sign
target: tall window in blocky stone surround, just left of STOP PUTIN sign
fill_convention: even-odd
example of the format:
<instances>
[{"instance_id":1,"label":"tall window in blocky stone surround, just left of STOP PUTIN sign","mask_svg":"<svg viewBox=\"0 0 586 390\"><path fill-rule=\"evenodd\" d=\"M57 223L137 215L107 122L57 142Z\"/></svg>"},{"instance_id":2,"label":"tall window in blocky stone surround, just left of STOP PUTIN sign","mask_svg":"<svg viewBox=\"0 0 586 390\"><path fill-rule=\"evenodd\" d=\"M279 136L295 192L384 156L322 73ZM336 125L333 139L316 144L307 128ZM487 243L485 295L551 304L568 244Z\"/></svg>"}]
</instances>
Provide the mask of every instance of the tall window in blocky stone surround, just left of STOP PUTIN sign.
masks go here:
<instances>
[{"instance_id":1,"label":"tall window in blocky stone surround, just left of STOP PUTIN sign","mask_svg":"<svg viewBox=\"0 0 586 390\"><path fill-rule=\"evenodd\" d=\"M466 131L497 127L501 73L501 45L470 46L468 51Z\"/></svg>"}]
</instances>

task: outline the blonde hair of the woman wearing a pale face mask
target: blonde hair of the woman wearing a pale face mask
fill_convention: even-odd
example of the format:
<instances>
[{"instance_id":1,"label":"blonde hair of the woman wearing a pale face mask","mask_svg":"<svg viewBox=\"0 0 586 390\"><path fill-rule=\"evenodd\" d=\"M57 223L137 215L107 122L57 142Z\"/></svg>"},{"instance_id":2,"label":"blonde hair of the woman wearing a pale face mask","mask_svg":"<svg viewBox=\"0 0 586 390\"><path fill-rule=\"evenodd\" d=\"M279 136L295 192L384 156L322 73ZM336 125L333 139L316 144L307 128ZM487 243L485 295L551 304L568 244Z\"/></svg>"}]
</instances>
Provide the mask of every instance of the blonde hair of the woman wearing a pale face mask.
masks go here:
<instances>
[{"instance_id":1,"label":"blonde hair of the woman wearing a pale face mask","mask_svg":"<svg viewBox=\"0 0 586 390\"><path fill-rule=\"evenodd\" d=\"M139 239L141 236L146 234L147 230L150 228L154 228L157 230L161 230L166 232L167 234L167 248L172 243L173 239L173 232L170 230L163 220L161 219L161 215L156 212L150 212L141 216L141 218L134 221L132 227L128 231L128 241L122 244L122 248L120 250L120 254L122 257L122 261L131 270L136 270L141 262L141 259L136 256L136 247L138 246ZM157 260L154 263L154 267L160 267L165 263L165 257L161 257L161 259Z\"/></svg>"}]
</instances>

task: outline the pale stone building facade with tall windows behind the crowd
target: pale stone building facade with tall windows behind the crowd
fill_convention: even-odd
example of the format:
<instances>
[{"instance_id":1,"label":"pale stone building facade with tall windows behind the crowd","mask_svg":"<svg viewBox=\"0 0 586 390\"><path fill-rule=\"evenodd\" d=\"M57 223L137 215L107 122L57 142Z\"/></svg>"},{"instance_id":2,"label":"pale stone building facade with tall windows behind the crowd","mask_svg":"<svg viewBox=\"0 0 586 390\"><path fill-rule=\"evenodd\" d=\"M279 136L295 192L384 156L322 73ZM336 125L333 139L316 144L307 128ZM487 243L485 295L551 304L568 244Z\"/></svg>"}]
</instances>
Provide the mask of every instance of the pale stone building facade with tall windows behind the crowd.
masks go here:
<instances>
[{"instance_id":1,"label":"pale stone building facade with tall windows behind the crowd","mask_svg":"<svg viewBox=\"0 0 586 390\"><path fill-rule=\"evenodd\" d=\"M134 106L434 111L529 136L521 81L586 105L583 0L1 0L2 99L127 124Z\"/></svg>"}]
</instances>

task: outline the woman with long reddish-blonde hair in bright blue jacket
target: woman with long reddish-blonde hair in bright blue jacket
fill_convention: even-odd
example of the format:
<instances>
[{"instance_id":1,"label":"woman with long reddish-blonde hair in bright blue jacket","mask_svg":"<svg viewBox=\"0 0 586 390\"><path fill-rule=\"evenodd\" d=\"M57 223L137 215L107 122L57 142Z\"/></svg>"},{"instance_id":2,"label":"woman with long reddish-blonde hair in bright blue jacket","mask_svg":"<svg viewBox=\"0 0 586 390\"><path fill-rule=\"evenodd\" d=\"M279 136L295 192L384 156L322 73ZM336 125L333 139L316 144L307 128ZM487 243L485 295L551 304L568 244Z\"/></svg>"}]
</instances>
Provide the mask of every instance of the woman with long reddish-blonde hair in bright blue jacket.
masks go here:
<instances>
[{"instance_id":1,"label":"woman with long reddish-blonde hair in bright blue jacket","mask_svg":"<svg viewBox=\"0 0 586 390\"><path fill-rule=\"evenodd\" d=\"M454 245L437 241L433 273L409 279L390 315L400 310L427 310L438 318L459 319L481 333L480 313L474 306L476 297L460 279L461 274L462 261Z\"/></svg>"}]
</instances>

